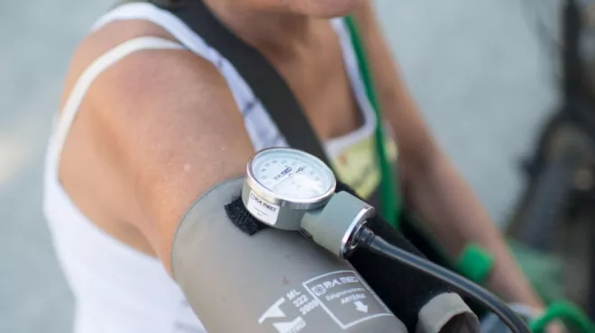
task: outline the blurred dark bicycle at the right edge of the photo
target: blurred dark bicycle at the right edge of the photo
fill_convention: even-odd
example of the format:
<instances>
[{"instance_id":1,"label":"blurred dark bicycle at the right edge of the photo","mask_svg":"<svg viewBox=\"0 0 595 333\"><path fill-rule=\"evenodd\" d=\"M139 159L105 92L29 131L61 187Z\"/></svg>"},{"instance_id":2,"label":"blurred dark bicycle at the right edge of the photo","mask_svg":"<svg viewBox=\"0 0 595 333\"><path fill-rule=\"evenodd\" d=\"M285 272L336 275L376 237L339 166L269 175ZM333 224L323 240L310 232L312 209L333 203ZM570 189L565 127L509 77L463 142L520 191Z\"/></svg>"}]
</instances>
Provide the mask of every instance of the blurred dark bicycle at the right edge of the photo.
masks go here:
<instances>
[{"instance_id":1,"label":"blurred dark bicycle at the right edge of the photo","mask_svg":"<svg viewBox=\"0 0 595 333\"><path fill-rule=\"evenodd\" d=\"M523 1L531 10L545 4ZM561 1L559 36L543 19L537 25L559 51L561 105L526 160L526 190L508 236L557 266L550 277L559 280L549 284L527 268L545 298L575 302L595 320L595 1Z\"/></svg>"}]
</instances>

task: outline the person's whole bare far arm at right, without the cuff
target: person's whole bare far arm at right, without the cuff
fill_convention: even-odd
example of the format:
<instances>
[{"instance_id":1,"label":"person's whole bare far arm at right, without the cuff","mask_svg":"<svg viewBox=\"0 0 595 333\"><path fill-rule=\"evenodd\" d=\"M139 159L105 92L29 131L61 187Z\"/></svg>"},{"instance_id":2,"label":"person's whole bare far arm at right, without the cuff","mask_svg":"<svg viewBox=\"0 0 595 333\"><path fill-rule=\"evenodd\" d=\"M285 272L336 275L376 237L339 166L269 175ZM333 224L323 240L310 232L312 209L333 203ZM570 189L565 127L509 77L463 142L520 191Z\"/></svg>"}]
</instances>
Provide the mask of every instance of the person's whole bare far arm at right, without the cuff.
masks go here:
<instances>
[{"instance_id":1,"label":"person's whole bare far arm at right, without the cuff","mask_svg":"<svg viewBox=\"0 0 595 333\"><path fill-rule=\"evenodd\" d=\"M382 112L397 137L409 207L422 215L426 220L424 227L453 258L459 257L469 242L479 244L496 257L489 285L492 291L509 302L539 306L499 230L437 148L400 78L372 5L362 5L353 15L361 28Z\"/></svg>"}]
</instances>

